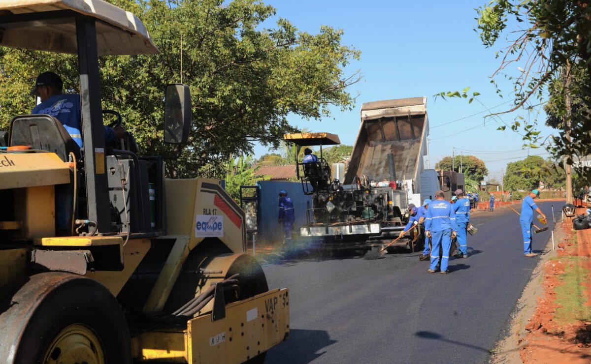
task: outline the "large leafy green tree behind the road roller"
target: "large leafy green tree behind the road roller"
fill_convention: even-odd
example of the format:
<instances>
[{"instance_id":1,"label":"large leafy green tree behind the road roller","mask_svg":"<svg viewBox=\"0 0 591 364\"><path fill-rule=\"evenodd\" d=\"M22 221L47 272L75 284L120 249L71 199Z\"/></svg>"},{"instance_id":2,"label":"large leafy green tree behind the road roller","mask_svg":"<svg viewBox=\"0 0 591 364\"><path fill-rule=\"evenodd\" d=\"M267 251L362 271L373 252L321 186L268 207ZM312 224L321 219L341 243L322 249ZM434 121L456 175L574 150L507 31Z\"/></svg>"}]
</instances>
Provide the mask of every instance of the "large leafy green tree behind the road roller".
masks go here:
<instances>
[{"instance_id":1,"label":"large leafy green tree behind the road roller","mask_svg":"<svg viewBox=\"0 0 591 364\"><path fill-rule=\"evenodd\" d=\"M343 31L322 26L298 31L257 0L109 0L144 22L158 55L100 57L103 108L117 110L142 154L164 155L168 175L224 173L232 155L252 153L253 142L277 148L293 132L287 116L320 119L330 107L349 110L347 87L359 73L344 68L359 51L342 45ZM0 128L28 113L37 74L61 74L78 92L72 55L0 47ZM163 143L163 96L168 83L190 86L193 123L185 147Z\"/></svg>"}]
</instances>

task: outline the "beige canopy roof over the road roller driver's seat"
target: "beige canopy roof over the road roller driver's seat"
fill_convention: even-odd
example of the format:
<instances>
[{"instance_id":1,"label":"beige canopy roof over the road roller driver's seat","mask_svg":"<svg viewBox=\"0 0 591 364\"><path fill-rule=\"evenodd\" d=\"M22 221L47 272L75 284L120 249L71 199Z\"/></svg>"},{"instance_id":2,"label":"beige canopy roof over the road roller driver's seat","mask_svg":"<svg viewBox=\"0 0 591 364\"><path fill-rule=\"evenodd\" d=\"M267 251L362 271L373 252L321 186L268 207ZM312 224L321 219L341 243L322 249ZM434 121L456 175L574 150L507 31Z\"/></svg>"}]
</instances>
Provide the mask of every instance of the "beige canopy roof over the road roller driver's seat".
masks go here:
<instances>
[{"instance_id":1,"label":"beige canopy roof over the road roller driver's seat","mask_svg":"<svg viewBox=\"0 0 591 364\"><path fill-rule=\"evenodd\" d=\"M134 14L103 0L2 0L0 45L76 54L80 17L96 20L98 55L159 53Z\"/></svg>"}]
</instances>

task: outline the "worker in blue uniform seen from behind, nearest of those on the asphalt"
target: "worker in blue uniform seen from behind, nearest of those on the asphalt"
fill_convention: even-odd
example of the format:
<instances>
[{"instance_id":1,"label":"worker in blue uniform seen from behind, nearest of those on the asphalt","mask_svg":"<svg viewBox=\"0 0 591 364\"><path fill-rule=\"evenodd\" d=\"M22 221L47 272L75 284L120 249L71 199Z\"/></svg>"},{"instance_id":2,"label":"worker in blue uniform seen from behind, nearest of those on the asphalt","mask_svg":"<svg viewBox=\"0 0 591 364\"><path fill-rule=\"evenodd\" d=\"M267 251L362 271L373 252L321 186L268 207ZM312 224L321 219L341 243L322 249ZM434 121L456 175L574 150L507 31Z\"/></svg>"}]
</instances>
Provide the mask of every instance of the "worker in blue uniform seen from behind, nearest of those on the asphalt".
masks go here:
<instances>
[{"instance_id":1,"label":"worker in blue uniform seen from behind, nearest of those on the asphalt","mask_svg":"<svg viewBox=\"0 0 591 364\"><path fill-rule=\"evenodd\" d=\"M443 191L435 192L436 201L429 204L427 214L425 214L425 235L431 237L433 246L431 252L439 252L443 248L441 255L441 274L447 274L447 265L449 263L449 250L452 245L452 238L456 237L456 214L453 212L453 206L445 200ZM428 273L437 271L439 263L439 254L431 254L431 265Z\"/></svg>"}]
</instances>

